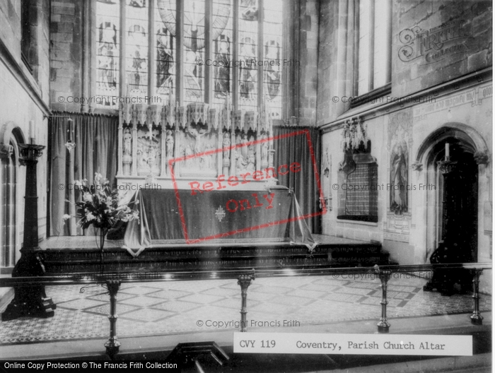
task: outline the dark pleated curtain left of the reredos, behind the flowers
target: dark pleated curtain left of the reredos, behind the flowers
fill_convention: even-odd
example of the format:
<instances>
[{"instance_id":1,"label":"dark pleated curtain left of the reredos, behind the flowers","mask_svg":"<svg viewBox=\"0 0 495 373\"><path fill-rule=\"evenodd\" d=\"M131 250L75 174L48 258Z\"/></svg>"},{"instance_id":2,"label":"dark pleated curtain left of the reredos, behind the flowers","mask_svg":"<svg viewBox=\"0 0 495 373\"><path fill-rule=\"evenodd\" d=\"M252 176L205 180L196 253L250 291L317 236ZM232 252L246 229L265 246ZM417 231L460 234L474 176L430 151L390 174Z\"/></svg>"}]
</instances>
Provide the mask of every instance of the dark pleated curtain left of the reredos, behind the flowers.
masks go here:
<instances>
[{"instance_id":1,"label":"dark pleated curtain left of the reredos, behind the flowers","mask_svg":"<svg viewBox=\"0 0 495 373\"><path fill-rule=\"evenodd\" d=\"M74 191L75 180L88 179L92 184L95 172L99 172L110 184L116 184L119 118L54 112L49 126L50 235L82 235L76 218L63 223L62 216L76 214L74 202L81 196ZM76 143L71 152L65 146L69 139ZM86 234L93 234L93 230Z\"/></svg>"}]
</instances>

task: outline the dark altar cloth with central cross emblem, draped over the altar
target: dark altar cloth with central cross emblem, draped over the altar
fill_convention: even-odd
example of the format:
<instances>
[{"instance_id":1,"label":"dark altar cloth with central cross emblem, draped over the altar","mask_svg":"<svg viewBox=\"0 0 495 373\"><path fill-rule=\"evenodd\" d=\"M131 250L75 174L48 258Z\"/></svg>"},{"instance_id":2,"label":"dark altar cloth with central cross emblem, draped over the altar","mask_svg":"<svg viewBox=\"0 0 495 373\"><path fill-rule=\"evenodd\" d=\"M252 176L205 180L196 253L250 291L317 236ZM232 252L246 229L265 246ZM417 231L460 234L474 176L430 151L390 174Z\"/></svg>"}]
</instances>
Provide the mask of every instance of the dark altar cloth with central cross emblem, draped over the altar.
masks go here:
<instances>
[{"instance_id":1,"label":"dark altar cloth with central cross emblem, draped over the altar","mask_svg":"<svg viewBox=\"0 0 495 373\"><path fill-rule=\"evenodd\" d=\"M151 247L153 240L183 239L186 243L211 239L284 239L315 247L293 191L277 187L254 191L141 189L124 235L124 249L133 256ZM133 250L139 249L138 252Z\"/></svg>"}]
</instances>

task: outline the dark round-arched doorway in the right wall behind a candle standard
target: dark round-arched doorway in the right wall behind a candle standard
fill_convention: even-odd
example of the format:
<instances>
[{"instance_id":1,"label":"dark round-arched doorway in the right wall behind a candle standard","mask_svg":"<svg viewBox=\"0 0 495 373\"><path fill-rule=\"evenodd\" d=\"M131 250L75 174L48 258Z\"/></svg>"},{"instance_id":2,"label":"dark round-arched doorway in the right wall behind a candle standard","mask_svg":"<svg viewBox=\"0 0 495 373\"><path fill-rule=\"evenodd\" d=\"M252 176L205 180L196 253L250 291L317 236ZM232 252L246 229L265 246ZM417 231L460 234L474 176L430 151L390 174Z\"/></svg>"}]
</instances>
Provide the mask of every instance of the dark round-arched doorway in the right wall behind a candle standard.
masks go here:
<instances>
[{"instance_id":1,"label":"dark round-arched doorway in the right wall behind a candle standard","mask_svg":"<svg viewBox=\"0 0 495 373\"><path fill-rule=\"evenodd\" d=\"M419 147L415 164L426 166L419 180L432 186L426 191L425 263L445 241L455 243L460 261L477 261L479 165L483 162L479 155L486 153L482 137L458 123L433 131Z\"/></svg>"}]
</instances>

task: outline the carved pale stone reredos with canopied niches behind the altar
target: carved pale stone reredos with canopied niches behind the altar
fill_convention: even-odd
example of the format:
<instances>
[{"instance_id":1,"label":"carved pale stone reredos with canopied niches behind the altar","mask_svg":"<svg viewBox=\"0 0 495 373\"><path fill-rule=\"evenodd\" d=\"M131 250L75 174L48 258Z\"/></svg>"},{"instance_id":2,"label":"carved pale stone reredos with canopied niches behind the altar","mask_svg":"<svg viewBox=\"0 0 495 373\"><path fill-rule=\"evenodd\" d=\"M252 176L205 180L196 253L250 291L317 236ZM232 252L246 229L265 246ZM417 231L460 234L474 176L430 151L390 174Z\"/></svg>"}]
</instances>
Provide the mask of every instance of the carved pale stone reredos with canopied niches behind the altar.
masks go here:
<instances>
[{"instance_id":1,"label":"carved pale stone reredos with canopied niches behind the altar","mask_svg":"<svg viewBox=\"0 0 495 373\"><path fill-rule=\"evenodd\" d=\"M168 179L216 178L255 172L273 167L273 143L249 144L268 140L273 134L272 119L264 108L233 111L230 101L210 107L195 102L180 107L132 104L120 107L119 182L134 182L146 177ZM231 146L243 145L238 149ZM202 154L200 156L195 156ZM139 182L139 181L138 181ZM163 183L164 185L167 182ZM167 184L169 185L169 184Z\"/></svg>"}]
</instances>

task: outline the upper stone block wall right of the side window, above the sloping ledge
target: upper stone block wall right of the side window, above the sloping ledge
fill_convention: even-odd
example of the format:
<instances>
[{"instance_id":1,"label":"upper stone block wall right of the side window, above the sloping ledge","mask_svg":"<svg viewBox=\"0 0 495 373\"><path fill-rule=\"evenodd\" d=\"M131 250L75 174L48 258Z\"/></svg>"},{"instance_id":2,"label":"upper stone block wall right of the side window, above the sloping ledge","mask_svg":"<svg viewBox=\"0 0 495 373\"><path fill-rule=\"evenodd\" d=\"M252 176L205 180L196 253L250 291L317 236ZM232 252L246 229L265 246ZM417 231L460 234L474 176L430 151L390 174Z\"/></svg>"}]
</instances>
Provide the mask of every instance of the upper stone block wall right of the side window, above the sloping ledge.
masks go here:
<instances>
[{"instance_id":1,"label":"upper stone block wall right of the side window, above the sloping ledge","mask_svg":"<svg viewBox=\"0 0 495 373\"><path fill-rule=\"evenodd\" d=\"M492 64L491 1L394 1L392 96Z\"/></svg>"}]
</instances>

